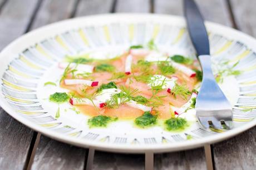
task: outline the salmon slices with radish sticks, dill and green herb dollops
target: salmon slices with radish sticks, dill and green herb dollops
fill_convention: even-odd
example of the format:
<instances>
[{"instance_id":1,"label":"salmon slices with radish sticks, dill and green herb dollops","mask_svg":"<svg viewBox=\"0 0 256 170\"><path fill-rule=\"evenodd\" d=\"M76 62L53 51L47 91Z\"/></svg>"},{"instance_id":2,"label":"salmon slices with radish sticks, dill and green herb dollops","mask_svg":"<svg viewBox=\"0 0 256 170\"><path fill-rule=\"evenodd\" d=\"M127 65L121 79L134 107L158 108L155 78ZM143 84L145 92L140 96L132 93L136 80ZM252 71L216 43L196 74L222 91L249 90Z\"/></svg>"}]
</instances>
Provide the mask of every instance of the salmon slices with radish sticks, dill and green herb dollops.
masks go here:
<instances>
[{"instance_id":1,"label":"salmon slices with radish sticks, dill and green herb dollops","mask_svg":"<svg viewBox=\"0 0 256 170\"><path fill-rule=\"evenodd\" d=\"M93 58L93 53L68 56L58 63L63 71L60 87L70 92L68 97L52 94L51 101L68 98L72 107L91 116L89 127L106 127L117 119L132 119L139 128L162 122L168 131L188 126L191 120L183 114L194 116L188 111L195 107L201 81L195 59L170 56L157 49L154 41L131 46L112 58L102 55L102 59Z\"/></svg>"}]
</instances>

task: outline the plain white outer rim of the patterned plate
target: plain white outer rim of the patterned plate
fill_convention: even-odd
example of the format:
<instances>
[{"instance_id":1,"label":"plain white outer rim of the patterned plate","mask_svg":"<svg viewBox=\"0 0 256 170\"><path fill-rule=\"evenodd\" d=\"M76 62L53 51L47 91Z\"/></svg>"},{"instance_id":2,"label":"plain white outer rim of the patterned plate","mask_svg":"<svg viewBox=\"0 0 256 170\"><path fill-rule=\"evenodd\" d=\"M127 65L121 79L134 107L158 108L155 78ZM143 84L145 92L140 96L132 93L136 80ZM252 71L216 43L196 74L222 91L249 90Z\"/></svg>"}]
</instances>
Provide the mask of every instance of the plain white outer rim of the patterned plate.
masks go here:
<instances>
[{"instance_id":1,"label":"plain white outer rim of the patterned plate","mask_svg":"<svg viewBox=\"0 0 256 170\"><path fill-rule=\"evenodd\" d=\"M141 13L114 13L114 14L97 14L92 16L85 16L85 17L77 17L72 19L66 19L63 21L55 22L52 24L48 24L46 26L37 28L31 32L28 32L26 34L23 34L21 37L15 39L11 43L8 44L0 53L0 59L3 59L4 56L8 56L4 58L6 62L3 62L1 65L5 66L3 68L6 68L7 64L9 63L10 59L13 59L14 57L10 57L12 54L10 51L12 47L15 47L15 44L18 42L22 42L29 38L29 36L36 35L40 32L45 31L45 29L50 29L52 27L58 27L61 26L61 24L67 24L70 22L78 22L78 21L86 21L86 20L92 20L92 19L99 19L99 18L120 18L120 17L139 17L139 18L160 18L160 19L176 19L177 21L184 22L184 17L180 16L173 16L168 14L141 14ZM211 29L220 29L223 31L230 31L228 34L237 34L237 37L235 39L245 39L248 41L247 46L250 48L256 49L256 39L249 36L248 34L245 34L243 32L237 31L234 28L230 28L227 26L223 26L218 23L213 22L206 22L206 27L209 27ZM60 32L59 32L60 33ZM38 41L37 41L38 42ZM255 45L254 45L254 44ZM28 45L26 45L28 47ZM0 70L0 74L2 76L2 70ZM108 151L108 152L121 152L121 153L145 153L145 152L154 152L154 153L163 153L163 152L174 152L174 151L183 151L186 149L192 149L192 148L198 148L201 146L204 146L204 144L212 144L219 141L223 141L224 139L231 138L239 133L242 133L246 131L249 128L252 128L256 125L256 119L254 118L252 121L243 124L239 128L231 129L228 132L214 134L213 136L203 137L200 139L194 139L193 141L185 141L181 143L166 143L166 144L145 144L145 145L139 145L139 146L124 146L121 144L110 144L110 143L93 143L85 139L78 139L78 138L72 138L65 136L64 134L57 133L54 131L49 131L49 129L39 126L38 124L29 121L26 118L23 118L22 116L19 116L15 111L12 111L12 108L8 106L8 103L5 101L3 94L0 95L0 106L6 111L10 116L12 116L17 121L21 122L25 126L33 129L33 131L36 131L38 133L42 133L43 135L50 137L52 139L56 139L57 141L73 144L78 147L83 148L93 148L101 151Z\"/></svg>"}]
</instances>

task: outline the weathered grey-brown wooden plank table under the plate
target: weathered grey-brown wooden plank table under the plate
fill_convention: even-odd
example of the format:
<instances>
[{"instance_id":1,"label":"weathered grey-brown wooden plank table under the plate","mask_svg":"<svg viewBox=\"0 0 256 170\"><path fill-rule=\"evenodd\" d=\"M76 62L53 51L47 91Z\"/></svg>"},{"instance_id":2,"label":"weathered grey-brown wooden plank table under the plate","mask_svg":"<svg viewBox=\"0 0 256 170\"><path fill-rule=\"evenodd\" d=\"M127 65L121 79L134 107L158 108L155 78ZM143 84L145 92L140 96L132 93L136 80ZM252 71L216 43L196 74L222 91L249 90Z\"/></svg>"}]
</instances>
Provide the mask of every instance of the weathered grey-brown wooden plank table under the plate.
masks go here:
<instances>
[{"instance_id":1,"label":"weathered grey-brown wooden plank table under the plate","mask_svg":"<svg viewBox=\"0 0 256 170\"><path fill-rule=\"evenodd\" d=\"M198 0L206 20L256 37L256 1ZM0 0L0 49L32 29L62 19L113 12L182 15L181 0ZM144 169L152 154L116 154L54 141L0 108L0 169ZM155 154L155 169L256 169L256 127L204 148ZM94 154L94 157L93 157ZM93 159L94 158L94 159ZM147 169L152 169L147 164Z\"/></svg>"}]
</instances>

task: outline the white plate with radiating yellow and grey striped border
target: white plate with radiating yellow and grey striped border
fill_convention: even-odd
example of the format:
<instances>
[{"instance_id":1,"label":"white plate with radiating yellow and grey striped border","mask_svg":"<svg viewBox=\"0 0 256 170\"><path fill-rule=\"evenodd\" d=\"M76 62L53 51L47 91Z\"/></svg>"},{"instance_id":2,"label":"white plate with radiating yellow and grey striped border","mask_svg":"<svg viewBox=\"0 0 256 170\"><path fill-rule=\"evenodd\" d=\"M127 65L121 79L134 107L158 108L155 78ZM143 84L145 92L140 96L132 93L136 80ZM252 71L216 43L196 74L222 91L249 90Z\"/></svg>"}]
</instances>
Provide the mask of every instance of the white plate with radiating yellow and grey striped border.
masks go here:
<instances>
[{"instance_id":1,"label":"white plate with radiating yellow and grey striped border","mask_svg":"<svg viewBox=\"0 0 256 170\"><path fill-rule=\"evenodd\" d=\"M131 44L145 44L153 38L166 51L193 56L184 19L159 14L104 14L68 19L18 38L0 54L1 107L19 122L53 139L104 151L170 152L227 139L256 124L256 41L219 24L207 22L206 27L213 60L239 61L235 69L242 71L237 77L225 77L221 85L233 103L235 128L230 131L210 132L194 123L184 132L174 133L160 127L138 129L127 121L117 121L108 128L88 128L88 117L76 114L65 104L61 117L55 118L58 106L47 98L56 88L43 84L58 79L61 71L57 62L66 54L119 53ZM193 138L188 140L188 135Z\"/></svg>"}]
</instances>

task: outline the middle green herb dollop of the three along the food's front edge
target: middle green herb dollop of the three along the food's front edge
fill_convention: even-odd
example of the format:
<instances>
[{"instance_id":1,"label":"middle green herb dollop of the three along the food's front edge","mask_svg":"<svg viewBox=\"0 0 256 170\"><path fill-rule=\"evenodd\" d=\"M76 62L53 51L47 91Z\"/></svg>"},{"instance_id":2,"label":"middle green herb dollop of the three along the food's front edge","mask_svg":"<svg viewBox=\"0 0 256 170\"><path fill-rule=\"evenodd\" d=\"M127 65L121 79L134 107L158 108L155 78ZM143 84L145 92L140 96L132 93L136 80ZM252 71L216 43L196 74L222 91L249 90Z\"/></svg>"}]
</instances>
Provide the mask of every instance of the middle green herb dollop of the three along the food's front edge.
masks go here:
<instances>
[{"instance_id":1,"label":"middle green herb dollop of the three along the food's front edge","mask_svg":"<svg viewBox=\"0 0 256 170\"><path fill-rule=\"evenodd\" d=\"M142 116L137 117L134 123L141 128L149 127L156 124L156 118L157 116L153 116L152 114L150 114L150 112L147 111L144 112Z\"/></svg>"}]
</instances>

